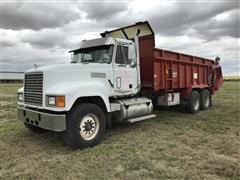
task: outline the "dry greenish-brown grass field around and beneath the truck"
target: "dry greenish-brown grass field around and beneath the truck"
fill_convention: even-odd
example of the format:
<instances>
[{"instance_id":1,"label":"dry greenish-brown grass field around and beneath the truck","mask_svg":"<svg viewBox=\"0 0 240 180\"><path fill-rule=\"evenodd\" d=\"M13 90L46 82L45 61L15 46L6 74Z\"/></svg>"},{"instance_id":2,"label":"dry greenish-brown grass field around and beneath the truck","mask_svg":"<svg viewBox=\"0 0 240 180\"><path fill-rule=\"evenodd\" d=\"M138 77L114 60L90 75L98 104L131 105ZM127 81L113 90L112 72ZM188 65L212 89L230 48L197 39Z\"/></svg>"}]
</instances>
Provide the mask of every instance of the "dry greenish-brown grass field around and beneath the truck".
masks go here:
<instances>
[{"instance_id":1,"label":"dry greenish-brown grass field around and beneath the truck","mask_svg":"<svg viewBox=\"0 0 240 180\"><path fill-rule=\"evenodd\" d=\"M169 109L114 127L85 150L61 135L34 134L16 116L20 84L1 84L0 179L239 179L240 82L225 82L213 107Z\"/></svg>"}]
</instances>

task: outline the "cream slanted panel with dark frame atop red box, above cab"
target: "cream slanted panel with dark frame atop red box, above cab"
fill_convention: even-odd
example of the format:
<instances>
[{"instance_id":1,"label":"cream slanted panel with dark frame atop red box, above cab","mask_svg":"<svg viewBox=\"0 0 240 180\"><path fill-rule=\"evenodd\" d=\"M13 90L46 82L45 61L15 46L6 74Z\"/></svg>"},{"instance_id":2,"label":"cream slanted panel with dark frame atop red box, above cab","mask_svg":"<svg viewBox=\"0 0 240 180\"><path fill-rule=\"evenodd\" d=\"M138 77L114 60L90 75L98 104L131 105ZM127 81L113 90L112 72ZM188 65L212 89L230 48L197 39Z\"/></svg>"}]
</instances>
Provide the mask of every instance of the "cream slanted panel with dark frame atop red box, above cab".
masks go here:
<instances>
[{"instance_id":1,"label":"cream slanted panel with dark frame atop red box, above cab","mask_svg":"<svg viewBox=\"0 0 240 180\"><path fill-rule=\"evenodd\" d=\"M154 32L150 24L147 21L145 21L138 22L131 26L121 27L119 29L115 29L112 31L105 31L101 33L101 36L102 37L111 36L113 38L121 39L133 39L136 36L138 29L140 30L139 37L154 35Z\"/></svg>"}]
</instances>

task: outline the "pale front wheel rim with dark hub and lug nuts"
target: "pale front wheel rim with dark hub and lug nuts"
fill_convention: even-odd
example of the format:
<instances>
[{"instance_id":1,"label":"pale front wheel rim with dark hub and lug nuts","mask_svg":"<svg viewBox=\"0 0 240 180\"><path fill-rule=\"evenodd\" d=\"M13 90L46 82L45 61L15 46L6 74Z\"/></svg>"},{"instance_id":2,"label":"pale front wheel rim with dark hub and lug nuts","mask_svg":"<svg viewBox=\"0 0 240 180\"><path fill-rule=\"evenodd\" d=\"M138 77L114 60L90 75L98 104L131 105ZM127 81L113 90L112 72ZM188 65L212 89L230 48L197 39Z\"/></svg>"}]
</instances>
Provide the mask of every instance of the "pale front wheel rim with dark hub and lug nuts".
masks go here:
<instances>
[{"instance_id":1,"label":"pale front wheel rim with dark hub and lug nuts","mask_svg":"<svg viewBox=\"0 0 240 180\"><path fill-rule=\"evenodd\" d=\"M94 114L83 116L80 123L80 135L84 140L92 140L96 137L99 130L99 119Z\"/></svg>"}]
</instances>

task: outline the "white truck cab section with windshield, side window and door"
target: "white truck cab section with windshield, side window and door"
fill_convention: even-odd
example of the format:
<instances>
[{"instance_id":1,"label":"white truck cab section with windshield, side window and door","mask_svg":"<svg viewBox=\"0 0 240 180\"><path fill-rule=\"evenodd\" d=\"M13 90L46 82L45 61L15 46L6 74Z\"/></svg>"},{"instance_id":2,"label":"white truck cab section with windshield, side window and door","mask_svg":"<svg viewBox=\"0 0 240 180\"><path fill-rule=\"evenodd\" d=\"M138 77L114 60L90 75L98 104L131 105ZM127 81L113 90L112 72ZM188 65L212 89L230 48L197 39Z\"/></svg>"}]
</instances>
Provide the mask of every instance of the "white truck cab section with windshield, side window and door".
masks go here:
<instances>
[{"instance_id":1,"label":"white truck cab section with windshield, side window and door","mask_svg":"<svg viewBox=\"0 0 240 180\"><path fill-rule=\"evenodd\" d=\"M108 96L136 94L138 88L136 46L133 41L105 37L83 41L81 48L70 51L71 63L96 66L92 78L106 78ZM102 66L103 65L103 66ZM108 73L106 73L108 70Z\"/></svg>"}]
</instances>

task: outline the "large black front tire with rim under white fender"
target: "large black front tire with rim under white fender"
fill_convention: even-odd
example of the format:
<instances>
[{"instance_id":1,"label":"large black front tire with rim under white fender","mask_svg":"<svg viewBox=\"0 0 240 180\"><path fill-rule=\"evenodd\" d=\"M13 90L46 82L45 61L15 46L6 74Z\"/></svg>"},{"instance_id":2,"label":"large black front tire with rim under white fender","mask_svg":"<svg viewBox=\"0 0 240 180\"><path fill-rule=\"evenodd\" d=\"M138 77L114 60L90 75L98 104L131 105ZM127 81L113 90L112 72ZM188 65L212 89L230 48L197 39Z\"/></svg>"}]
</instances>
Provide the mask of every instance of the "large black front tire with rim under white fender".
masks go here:
<instances>
[{"instance_id":1,"label":"large black front tire with rim under white fender","mask_svg":"<svg viewBox=\"0 0 240 180\"><path fill-rule=\"evenodd\" d=\"M99 143L105 129L106 118L99 106L78 104L67 114L64 142L73 149L91 147Z\"/></svg>"}]
</instances>

